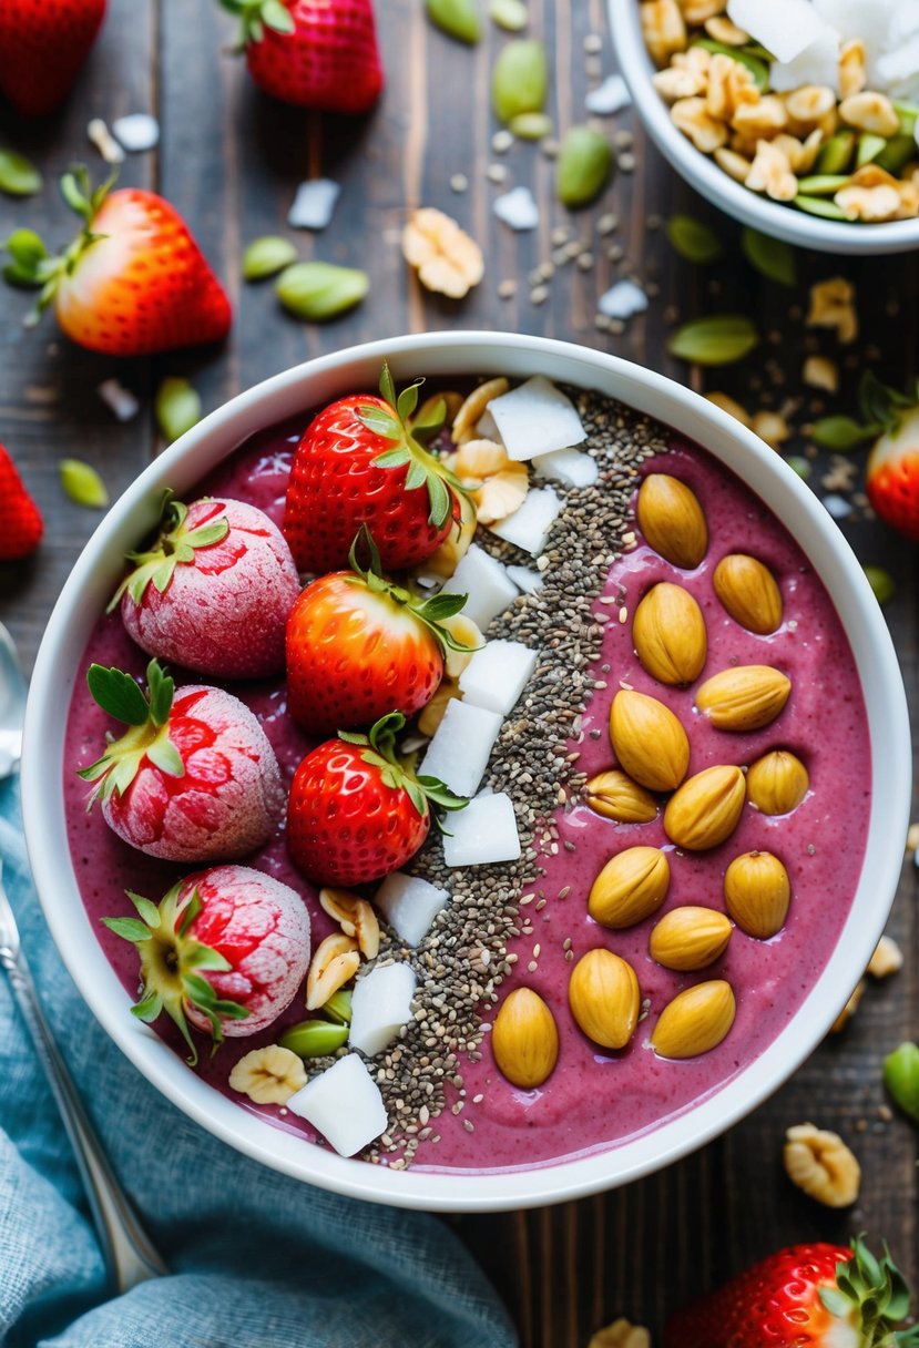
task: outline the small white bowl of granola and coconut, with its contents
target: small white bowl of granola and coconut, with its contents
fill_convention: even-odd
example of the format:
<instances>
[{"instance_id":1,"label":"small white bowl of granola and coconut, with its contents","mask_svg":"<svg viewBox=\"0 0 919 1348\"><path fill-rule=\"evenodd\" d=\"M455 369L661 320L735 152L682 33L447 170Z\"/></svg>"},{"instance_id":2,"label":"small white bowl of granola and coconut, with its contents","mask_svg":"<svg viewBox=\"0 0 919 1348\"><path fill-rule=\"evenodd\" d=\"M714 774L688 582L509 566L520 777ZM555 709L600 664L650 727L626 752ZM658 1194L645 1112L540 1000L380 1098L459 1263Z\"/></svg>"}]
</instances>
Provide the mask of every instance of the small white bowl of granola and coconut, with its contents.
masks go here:
<instances>
[{"instance_id":1,"label":"small white bowl of granola and coconut, with its contents","mask_svg":"<svg viewBox=\"0 0 919 1348\"><path fill-rule=\"evenodd\" d=\"M919 247L919 5L610 0L648 133L709 201L802 248Z\"/></svg>"}]
</instances>

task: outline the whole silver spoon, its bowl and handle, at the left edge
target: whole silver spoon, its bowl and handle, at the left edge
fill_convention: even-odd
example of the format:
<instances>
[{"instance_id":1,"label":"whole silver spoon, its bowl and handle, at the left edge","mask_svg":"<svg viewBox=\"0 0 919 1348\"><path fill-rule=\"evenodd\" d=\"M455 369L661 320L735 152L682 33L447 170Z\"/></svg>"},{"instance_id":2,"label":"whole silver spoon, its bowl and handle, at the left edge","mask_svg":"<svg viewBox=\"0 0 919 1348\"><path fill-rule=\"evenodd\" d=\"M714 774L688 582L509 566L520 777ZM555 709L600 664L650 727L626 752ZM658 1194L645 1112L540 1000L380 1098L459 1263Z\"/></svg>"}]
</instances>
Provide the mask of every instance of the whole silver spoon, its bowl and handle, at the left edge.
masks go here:
<instances>
[{"instance_id":1,"label":"whole silver spoon, its bowl and handle, at the left edge","mask_svg":"<svg viewBox=\"0 0 919 1348\"><path fill-rule=\"evenodd\" d=\"M19 768L26 714L26 681L19 669L16 647L0 623L0 780ZM0 863L0 965L9 976L26 1027L49 1078L63 1126L77 1157L89 1206L112 1286L128 1291L139 1282L168 1273L140 1225L128 1196L102 1151L84 1103L61 1057L44 1019L38 991L19 942L16 922L3 888Z\"/></svg>"}]
</instances>

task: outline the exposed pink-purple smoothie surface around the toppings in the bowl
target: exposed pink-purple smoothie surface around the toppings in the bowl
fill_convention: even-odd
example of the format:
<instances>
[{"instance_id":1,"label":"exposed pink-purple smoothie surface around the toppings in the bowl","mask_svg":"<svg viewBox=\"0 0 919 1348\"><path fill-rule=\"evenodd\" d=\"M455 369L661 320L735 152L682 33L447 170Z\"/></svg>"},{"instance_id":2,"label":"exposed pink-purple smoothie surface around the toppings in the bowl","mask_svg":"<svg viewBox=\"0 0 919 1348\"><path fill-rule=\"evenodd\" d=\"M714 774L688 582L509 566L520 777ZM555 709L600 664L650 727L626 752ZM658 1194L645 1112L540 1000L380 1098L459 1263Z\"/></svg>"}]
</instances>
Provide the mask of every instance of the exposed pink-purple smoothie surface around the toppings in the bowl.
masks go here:
<instances>
[{"instance_id":1,"label":"exposed pink-purple smoothie surface around the toppings in the bowl","mask_svg":"<svg viewBox=\"0 0 919 1348\"><path fill-rule=\"evenodd\" d=\"M279 523L298 430L299 426L287 425L253 437L202 483L201 493L248 500ZM415 1170L531 1169L606 1150L690 1109L748 1066L787 1026L825 968L852 905L865 849L870 758L858 675L833 603L775 515L703 450L671 435L670 453L649 460L641 470L668 472L693 487L709 520L710 545L694 572L671 566L640 539L610 569L605 594L614 596L616 603L594 604L594 611L606 619L606 627L601 659L593 674L606 686L594 692L582 718L582 733L571 744L581 752L578 767L590 776L613 766L609 706L620 686L628 685L666 702L679 716L690 737L690 772L717 763L744 766L772 748L787 748L804 762L810 791L792 814L780 818L765 817L747 805L734 834L721 847L702 853L675 849L663 832L660 814L651 824L621 825L600 818L585 806L559 807L551 821L557 838L547 830L539 830L536 837L538 845L543 844L539 865L544 874L527 891L532 899L521 909L521 918L528 918L534 930L511 945L517 962L500 992L504 998L513 987L528 985L546 999L559 1029L558 1065L542 1088L520 1091L495 1068L486 1034L481 1061L461 1061L464 1085L459 1091L449 1088L447 1105L433 1120L438 1140L419 1144ZM771 636L755 636L738 627L714 596L711 573L721 557L733 551L759 557L779 582L784 619ZM709 654L701 679L730 665L752 663L773 665L788 675L791 697L772 725L751 735L716 731L694 710L693 687L668 689L644 673L632 648L631 615L658 581L683 585L702 608ZM620 605L628 609L625 623L617 620ZM127 636L115 613L100 617L93 630L85 666L92 661L140 677L147 656ZM174 667L172 673L178 685L199 682L193 675L183 677L179 669ZM287 716L283 681L225 686L261 721L288 785L311 741ZM158 900L190 868L136 852L112 833L98 809L86 813L88 787L77 778L77 768L98 756L105 732L112 728L110 718L92 702L80 678L70 706L63 764L70 853L100 944L133 996L137 992L133 948L98 919L132 913L124 898L127 888ZM592 737L592 731L598 735ZM429 845L438 845L437 840ZM628 931L609 931L588 915L588 894L609 857L636 845L660 847L667 852L670 891L654 918ZM755 849L773 852L788 871L792 899L783 930L769 941L757 941L734 929L726 953L698 973L679 975L656 965L648 954L654 923L670 909L687 903L724 909L722 879L729 861ZM247 859L247 864L290 884L303 896L313 919L314 942L333 930L315 888L287 856L283 825L265 848ZM589 949L605 946L635 968L647 1016L621 1051L597 1047L574 1024L567 1008L573 960L566 960L566 942L570 942L574 960ZM532 962L535 969L530 968ZM685 987L713 977L726 979L737 1000L737 1016L725 1041L698 1058L680 1062L658 1058L649 1047L649 1035L663 1006ZM841 1004L850 991L839 988ZM224 1045L213 1058L202 1054L197 1070L240 1108L315 1140L303 1120L276 1107L253 1105L226 1084L239 1057L274 1042L284 1024L296 1023L306 1015L298 995L270 1030ZM492 1020L493 1010L484 1012L482 1019ZM185 1055L168 1023L156 1029L177 1053Z\"/></svg>"}]
</instances>

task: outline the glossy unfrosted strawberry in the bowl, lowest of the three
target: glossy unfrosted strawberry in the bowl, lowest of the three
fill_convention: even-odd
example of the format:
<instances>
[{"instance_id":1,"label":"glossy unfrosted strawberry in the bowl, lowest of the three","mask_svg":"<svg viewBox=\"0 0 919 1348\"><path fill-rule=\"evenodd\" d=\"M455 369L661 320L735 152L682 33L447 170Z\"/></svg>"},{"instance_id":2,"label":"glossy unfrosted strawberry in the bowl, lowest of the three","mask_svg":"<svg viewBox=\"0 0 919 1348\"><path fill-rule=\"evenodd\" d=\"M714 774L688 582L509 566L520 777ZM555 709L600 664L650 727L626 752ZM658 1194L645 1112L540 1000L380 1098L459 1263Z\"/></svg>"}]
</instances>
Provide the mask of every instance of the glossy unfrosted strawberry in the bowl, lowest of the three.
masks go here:
<instances>
[{"instance_id":1,"label":"glossy unfrosted strawberry in the bowl, lowest of the three","mask_svg":"<svg viewBox=\"0 0 919 1348\"><path fill-rule=\"evenodd\" d=\"M429 801L442 810L466 803L433 776L399 762L404 716L383 716L369 735L341 733L307 754L291 783L287 847L317 884L362 884L398 871L431 826Z\"/></svg>"}]
</instances>

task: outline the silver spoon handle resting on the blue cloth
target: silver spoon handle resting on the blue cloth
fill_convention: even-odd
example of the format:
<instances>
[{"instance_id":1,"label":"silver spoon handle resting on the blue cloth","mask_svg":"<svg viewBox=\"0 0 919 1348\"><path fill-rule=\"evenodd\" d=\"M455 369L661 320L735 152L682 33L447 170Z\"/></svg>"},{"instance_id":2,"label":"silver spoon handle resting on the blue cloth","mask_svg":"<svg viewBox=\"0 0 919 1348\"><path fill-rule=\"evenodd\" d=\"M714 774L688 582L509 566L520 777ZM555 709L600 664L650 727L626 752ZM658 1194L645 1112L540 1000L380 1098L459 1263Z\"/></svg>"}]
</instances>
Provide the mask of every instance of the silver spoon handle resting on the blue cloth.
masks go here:
<instances>
[{"instance_id":1,"label":"silver spoon handle resting on the blue cloth","mask_svg":"<svg viewBox=\"0 0 919 1348\"><path fill-rule=\"evenodd\" d=\"M166 1264L116 1180L98 1135L77 1095L44 1019L26 957L22 950L4 944L0 945L0 965L9 975L13 996L73 1144L112 1285L121 1293L148 1278L167 1274Z\"/></svg>"}]
</instances>

